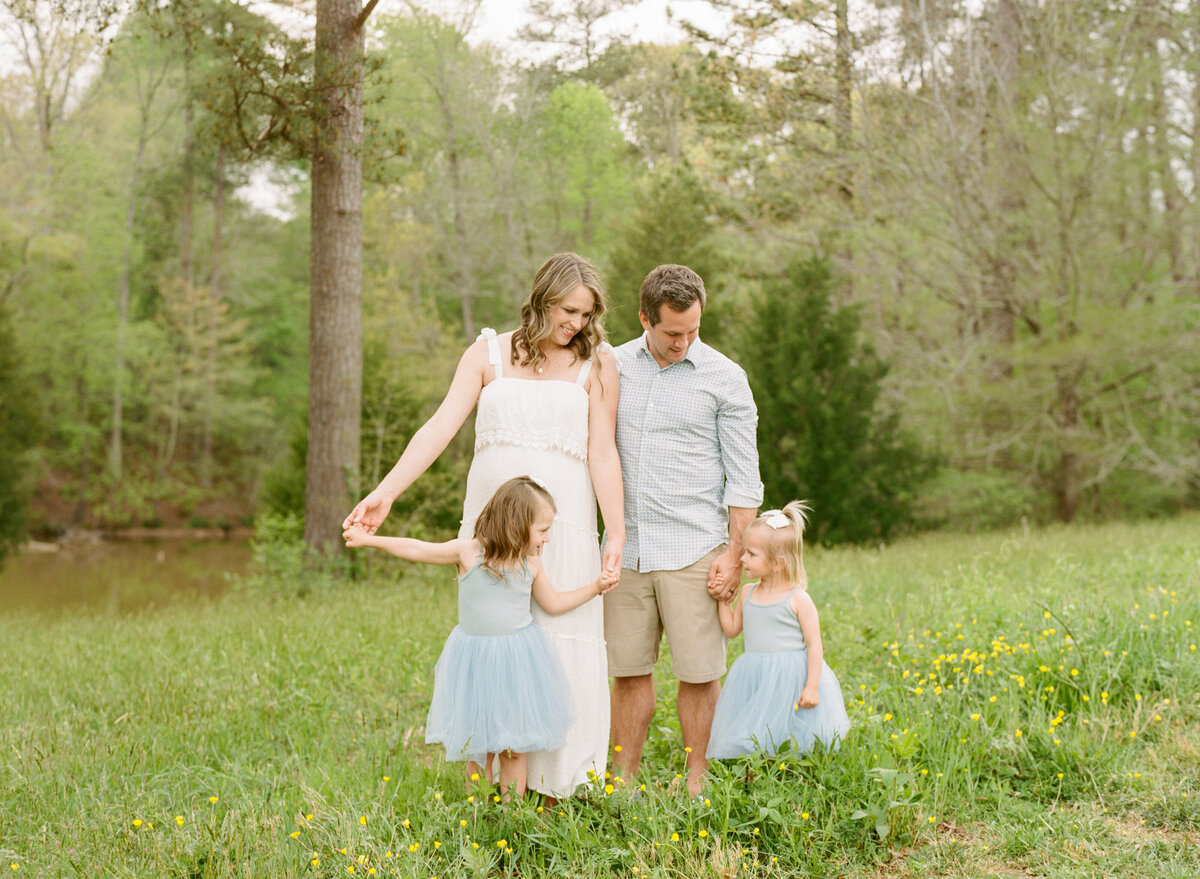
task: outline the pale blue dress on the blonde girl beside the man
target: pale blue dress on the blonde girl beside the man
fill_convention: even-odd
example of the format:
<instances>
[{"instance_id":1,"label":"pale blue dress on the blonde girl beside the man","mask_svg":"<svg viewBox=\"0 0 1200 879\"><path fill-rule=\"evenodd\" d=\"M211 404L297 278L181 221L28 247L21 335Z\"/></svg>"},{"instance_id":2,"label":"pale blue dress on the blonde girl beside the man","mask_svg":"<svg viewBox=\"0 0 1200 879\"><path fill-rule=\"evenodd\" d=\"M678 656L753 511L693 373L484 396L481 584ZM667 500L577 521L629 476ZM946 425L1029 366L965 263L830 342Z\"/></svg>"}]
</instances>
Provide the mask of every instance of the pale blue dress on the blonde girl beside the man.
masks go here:
<instances>
[{"instance_id":1,"label":"pale blue dress on the blonde girl beside the man","mask_svg":"<svg viewBox=\"0 0 1200 879\"><path fill-rule=\"evenodd\" d=\"M788 608L796 590L778 602L757 604L756 586L742 603L745 652L733 662L716 701L709 759L774 754L788 739L802 752L815 740L833 747L850 730L841 684L826 663L821 663L816 707L796 707L809 677L804 633Z\"/></svg>"}]
</instances>

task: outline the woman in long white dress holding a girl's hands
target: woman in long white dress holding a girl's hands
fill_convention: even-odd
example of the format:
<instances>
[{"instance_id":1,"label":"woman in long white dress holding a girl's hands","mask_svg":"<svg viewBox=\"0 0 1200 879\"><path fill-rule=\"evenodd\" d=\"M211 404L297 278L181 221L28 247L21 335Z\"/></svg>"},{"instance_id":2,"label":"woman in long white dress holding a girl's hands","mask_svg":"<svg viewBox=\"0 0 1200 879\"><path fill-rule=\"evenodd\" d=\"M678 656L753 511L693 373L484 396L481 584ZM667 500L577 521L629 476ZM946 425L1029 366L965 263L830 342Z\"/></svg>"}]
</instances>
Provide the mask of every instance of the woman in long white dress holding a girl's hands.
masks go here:
<instances>
[{"instance_id":1,"label":"woman in long white dress holding a girl's hands","mask_svg":"<svg viewBox=\"0 0 1200 879\"><path fill-rule=\"evenodd\" d=\"M604 312L604 288L587 259L575 253L547 259L521 306L521 325L500 335L486 329L467 348L438 411L344 525L358 520L374 533L392 502L442 454L478 403L475 458L458 536L474 534L475 518L502 483L528 474L558 504L542 550L556 588L571 590L600 574L598 501L606 531L602 567L619 573L625 543L616 443L619 379L605 345ZM604 612L599 598L562 616L552 617L536 605L532 610L566 671L574 722L565 747L529 754L529 787L562 797L584 784L589 772L604 777L608 747Z\"/></svg>"}]
</instances>

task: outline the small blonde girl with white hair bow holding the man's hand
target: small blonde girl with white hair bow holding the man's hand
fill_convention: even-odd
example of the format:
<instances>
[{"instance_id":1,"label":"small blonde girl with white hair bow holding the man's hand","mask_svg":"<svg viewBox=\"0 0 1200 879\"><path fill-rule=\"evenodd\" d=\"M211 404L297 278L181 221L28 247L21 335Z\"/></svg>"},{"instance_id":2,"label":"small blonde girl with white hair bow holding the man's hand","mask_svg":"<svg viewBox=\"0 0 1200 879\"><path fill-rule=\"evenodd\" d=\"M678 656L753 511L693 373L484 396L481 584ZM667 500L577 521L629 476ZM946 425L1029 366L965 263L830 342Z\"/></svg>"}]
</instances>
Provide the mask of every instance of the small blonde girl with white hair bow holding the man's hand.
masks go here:
<instances>
[{"instance_id":1,"label":"small blonde girl with white hair bow holding the man's hand","mask_svg":"<svg viewBox=\"0 0 1200 879\"><path fill-rule=\"evenodd\" d=\"M774 754L790 739L809 751L835 746L850 729L841 686L824 663L817 609L804 572L804 514L792 501L746 527L742 566L749 584L718 614L726 636L745 627L745 652L716 701L708 757Z\"/></svg>"}]
</instances>

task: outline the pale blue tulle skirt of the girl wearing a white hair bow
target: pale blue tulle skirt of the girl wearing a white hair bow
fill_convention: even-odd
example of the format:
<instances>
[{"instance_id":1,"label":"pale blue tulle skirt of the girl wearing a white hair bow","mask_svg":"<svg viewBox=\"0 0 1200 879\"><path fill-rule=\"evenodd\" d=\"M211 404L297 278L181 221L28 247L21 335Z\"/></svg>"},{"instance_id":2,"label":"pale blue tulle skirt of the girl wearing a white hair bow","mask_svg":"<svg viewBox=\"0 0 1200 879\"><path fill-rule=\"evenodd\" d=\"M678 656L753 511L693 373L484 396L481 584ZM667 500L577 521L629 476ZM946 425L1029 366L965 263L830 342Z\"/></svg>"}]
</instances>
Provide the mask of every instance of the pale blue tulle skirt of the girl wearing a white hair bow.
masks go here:
<instances>
[{"instance_id":1,"label":"pale blue tulle skirt of the girl wearing a white hair bow","mask_svg":"<svg viewBox=\"0 0 1200 879\"><path fill-rule=\"evenodd\" d=\"M814 741L835 747L850 730L841 684L822 663L816 707L797 708L808 675L804 650L739 656L716 702L708 758L774 754L788 740L802 752L811 749Z\"/></svg>"}]
</instances>

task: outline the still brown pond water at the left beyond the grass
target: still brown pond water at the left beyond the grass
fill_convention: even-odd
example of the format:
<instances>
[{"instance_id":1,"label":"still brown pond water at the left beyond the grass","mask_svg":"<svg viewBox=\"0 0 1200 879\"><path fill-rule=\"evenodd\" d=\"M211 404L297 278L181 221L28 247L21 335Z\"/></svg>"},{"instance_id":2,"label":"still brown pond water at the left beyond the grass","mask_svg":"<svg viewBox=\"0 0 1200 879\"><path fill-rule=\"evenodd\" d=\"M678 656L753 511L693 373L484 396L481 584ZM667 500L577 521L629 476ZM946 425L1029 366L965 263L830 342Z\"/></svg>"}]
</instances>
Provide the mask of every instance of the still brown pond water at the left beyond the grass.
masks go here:
<instances>
[{"instance_id":1,"label":"still brown pond water at the left beyond the grass","mask_svg":"<svg viewBox=\"0 0 1200 879\"><path fill-rule=\"evenodd\" d=\"M56 551L23 549L0 570L0 614L124 614L170 602L215 598L227 574L250 567L245 540L115 540L68 543Z\"/></svg>"}]
</instances>

